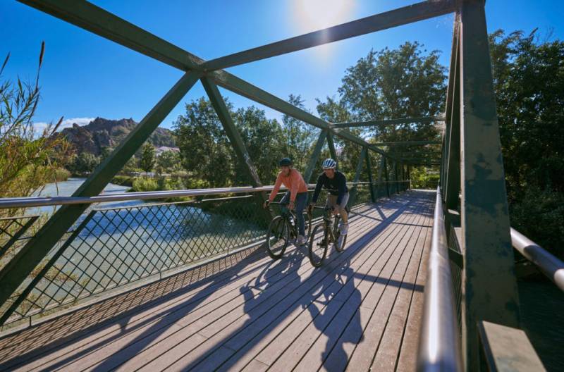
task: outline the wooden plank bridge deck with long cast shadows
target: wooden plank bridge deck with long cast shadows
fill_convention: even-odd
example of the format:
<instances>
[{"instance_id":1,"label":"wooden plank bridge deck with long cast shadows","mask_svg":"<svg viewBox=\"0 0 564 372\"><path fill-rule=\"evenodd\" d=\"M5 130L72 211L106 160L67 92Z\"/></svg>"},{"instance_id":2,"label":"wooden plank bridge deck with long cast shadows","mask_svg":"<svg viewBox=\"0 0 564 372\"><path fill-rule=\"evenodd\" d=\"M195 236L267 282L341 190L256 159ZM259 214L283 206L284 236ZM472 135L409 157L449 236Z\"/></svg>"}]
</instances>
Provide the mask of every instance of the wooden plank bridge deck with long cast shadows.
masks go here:
<instances>
[{"instance_id":1,"label":"wooden plank bridge deck with long cast shadows","mask_svg":"<svg viewBox=\"0 0 564 372\"><path fill-rule=\"evenodd\" d=\"M351 214L348 247L240 252L0 340L0 369L412 371L434 192Z\"/></svg>"}]
</instances>

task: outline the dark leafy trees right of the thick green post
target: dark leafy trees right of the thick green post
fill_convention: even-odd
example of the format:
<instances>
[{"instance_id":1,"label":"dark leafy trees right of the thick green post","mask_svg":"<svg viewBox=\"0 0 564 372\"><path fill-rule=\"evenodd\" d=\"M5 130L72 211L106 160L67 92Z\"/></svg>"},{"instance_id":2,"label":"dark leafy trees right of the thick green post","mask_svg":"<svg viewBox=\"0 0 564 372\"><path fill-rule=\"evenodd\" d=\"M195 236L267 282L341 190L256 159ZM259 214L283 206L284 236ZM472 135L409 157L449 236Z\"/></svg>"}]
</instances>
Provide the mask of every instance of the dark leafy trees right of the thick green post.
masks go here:
<instances>
[{"instance_id":1,"label":"dark leafy trees right of the thick green post","mask_svg":"<svg viewBox=\"0 0 564 372\"><path fill-rule=\"evenodd\" d=\"M511 224L564 256L564 42L490 35Z\"/></svg>"}]
</instances>

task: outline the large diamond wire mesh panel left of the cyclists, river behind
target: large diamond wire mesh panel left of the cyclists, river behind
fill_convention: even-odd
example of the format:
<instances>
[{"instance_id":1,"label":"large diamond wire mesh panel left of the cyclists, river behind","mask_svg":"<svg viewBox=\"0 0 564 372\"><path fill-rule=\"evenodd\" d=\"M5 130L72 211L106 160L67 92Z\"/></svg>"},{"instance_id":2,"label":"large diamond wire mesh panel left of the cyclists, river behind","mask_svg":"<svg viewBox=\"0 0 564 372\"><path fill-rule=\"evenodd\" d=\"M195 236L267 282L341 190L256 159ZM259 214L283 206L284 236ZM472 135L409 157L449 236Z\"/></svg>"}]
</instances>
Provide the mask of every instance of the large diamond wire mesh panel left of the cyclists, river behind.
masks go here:
<instances>
[{"instance_id":1,"label":"large diamond wire mesh panel left of the cyclists, river behind","mask_svg":"<svg viewBox=\"0 0 564 372\"><path fill-rule=\"evenodd\" d=\"M9 321L257 242L266 228L254 198L91 211Z\"/></svg>"}]
</instances>

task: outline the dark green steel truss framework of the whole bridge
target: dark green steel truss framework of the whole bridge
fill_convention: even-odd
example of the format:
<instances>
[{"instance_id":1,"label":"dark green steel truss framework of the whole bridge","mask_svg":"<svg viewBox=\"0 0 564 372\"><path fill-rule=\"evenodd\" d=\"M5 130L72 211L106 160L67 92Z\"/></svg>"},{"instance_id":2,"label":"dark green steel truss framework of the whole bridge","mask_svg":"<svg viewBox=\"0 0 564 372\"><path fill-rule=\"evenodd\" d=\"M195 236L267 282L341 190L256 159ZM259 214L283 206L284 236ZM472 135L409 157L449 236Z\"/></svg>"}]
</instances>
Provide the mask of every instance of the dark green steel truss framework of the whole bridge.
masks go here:
<instances>
[{"instance_id":1,"label":"dark green steel truss framework of the whole bridge","mask_svg":"<svg viewBox=\"0 0 564 372\"><path fill-rule=\"evenodd\" d=\"M304 173L306 181L311 179L314 166L326 141L331 156L335 158L337 157L333 144L335 136L341 140L360 145L362 152L352 187L354 194L352 199L355 199L353 203L357 203L360 199L374 202L381 194L386 194L389 197L391 192L405 190L407 180L410 179L411 166L440 165L441 194L446 203L446 223L450 228L449 244L456 245L458 250L453 250L460 252L462 257L457 263L463 268L457 271L454 284L455 286L458 285L458 291L455 291L455 293L460 299L459 319L462 328L462 347L466 368L472 371L479 369L479 366L477 366L479 350L476 327L478 321L487 320L504 325L518 326L519 302L513 275L513 249L509 236L508 206L489 61L484 0L423 1L412 6L405 6L211 61L204 61L202 58L190 54L188 51L166 42L166 40L160 39L87 1L20 0L20 2L185 72L185 75L147 113L147 116L143 118L137 128L130 132L130 135L112 152L109 158L99 165L90 178L73 194L73 197L99 194L125 162L130 159L130 156L137 151L166 115L184 97L186 92L197 80L201 80L235 149L238 161L246 165L245 170L252 185L258 186L262 183L258 178L252 159L248 156L245 144L241 140L235 125L233 125L233 120L228 115L218 87L228 89L321 129L319 139ZM333 124L222 70L242 63L259 61L264 58L336 42L369 32L385 30L386 28L447 13L455 13L455 26L444 118L400 118ZM370 144L346 129L369 125L400 125L442 120L445 122L442 142L428 140ZM435 158L433 154L427 154L425 151L400 152L396 149L399 146L429 146L429 149L434 149L433 146L438 144L441 144L440 161L438 154ZM384 151L381 147L393 148L393 152ZM379 160L372 161L372 156L377 156L376 159ZM363 163L367 167L369 187L367 187L368 190L364 189L362 194L358 190L357 183ZM376 182L372 179L373 163L379 163ZM377 186L376 190L374 190L375 185ZM362 197L360 197L361 194ZM368 195L369 199L367 199ZM264 198L264 195L262 198ZM159 206L157 210L162 208L169 207ZM61 237L68 233L73 225L75 225L75 230L73 230L72 239L63 242L63 245L56 250L55 254L51 253L47 265L43 266L41 270L41 275L37 275L34 279L36 285L42 283L42 280L53 277L52 273L49 274L49 272L61 268L59 260L64 259L65 254L71 252L69 249L73 244L80 244L80 239L82 239L80 234L90 229L88 226L95 224L96 218L119 221L115 224L119 225L122 221L122 214L127 215L127 212L124 211L114 211L113 214L104 211L92 211L77 226L76 221L86 209L87 205L82 204L62 206L39 232L21 247L16 256L1 268L0 304L4 306L3 309L6 309L5 305L10 303L8 300L13 301L9 311L4 312L2 321L6 321L6 318L11 314L23 316L23 312L26 310L24 309L25 306L23 308L21 306L24 305L23 298L25 296L21 294L23 293L21 291L27 291L26 294L31 294L32 290L37 288L32 287L30 289L29 283L27 283L27 287L22 284L25 283L26 278L39 263L46 259L51 249L60 244ZM147 213L149 212L158 213L158 211L152 211L150 208L147 209ZM184 217L178 216L178 218ZM176 223L177 221L173 222ZM132 223L132 221L129 221L129 223ZM460 241L458 235L453 233L455 229L461 231ZM95 231L97 230L94 228L92 232ZM255 235L252 235L249 239L252 240L253 236ZM130 237L125 237L125 240L128 239ZM88 246L94 247L96 244L92 243ZM127 245L128 243L125 242L124 244ZM154 249L163 249L157 247L157 245L154 246ZM78 250L84 256L84 259L92 260L92 257L88 256L87 252L90 252L88 249ZM194 259L193 257L178 257L174 254L171 256L165 251L166 249L162 252L159 251L158 263L156 261L156 265L160 265L159 268L157 266L141 268L142 264L140 264L139 273L134 270L125 281L134 280L133 278L137 277L146 277L156 271L160 272L176 264ZM147 252L153 251L146 249L143 252L136 252L135 248L131 248L129 250L123 249L123 252L129 254L135 262L142 263L143 260L148 259ZM108 268L119 264L120 260L117 257L121 253L116 252L114 254L116 254L116 259L106 263L106 265L109 265ZM96 268L104 266L103 263L94 261L92 261L92 264ZM61 272L62 270L61 268ZM118 272L120 273L118 274ZM57 275L54 277L57 278ZM90 273L82 282L80 277L75 278L71 274L67 276L66 280L78 280L81 284L79 286L81 289L78 292L68 290L68 293L73 293L71 297L74 299L79 298L82 295L81 293L95 293L100 288L107 290L108 287L117 285L124 280L123 273L119 270L116 270L115 275ZM90 285L89 283L94 284ZM82 286L82 284L84 285ZM20 294L19 297L14 299L16 290L19 290ZM59 297L56 297L47 288L42 293L44 297L47 296L45 297L48 299L47 302L54 301L63 304L66 301L62 297L59 300ZM29 301L29 299L30 297L25 297L25 301ZM16 303L18 303L17 306ZM37 303L30 304L27 311L32 311L30 309L34 309L34 306L37 307ZM50 305L47 304L46 306L49 307ZM14 313L14 311L16 312Z\"/></svg>"}]
</instances>

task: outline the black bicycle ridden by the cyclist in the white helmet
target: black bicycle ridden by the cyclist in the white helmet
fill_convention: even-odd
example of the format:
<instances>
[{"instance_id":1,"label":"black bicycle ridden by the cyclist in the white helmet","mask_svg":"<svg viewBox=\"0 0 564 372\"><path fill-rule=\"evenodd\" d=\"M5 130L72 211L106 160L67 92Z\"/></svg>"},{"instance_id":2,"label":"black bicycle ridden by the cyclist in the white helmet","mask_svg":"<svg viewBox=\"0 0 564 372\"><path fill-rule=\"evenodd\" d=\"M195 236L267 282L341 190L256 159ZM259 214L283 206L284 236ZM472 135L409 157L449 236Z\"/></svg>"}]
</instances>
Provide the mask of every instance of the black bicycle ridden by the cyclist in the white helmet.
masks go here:
<instances>
[{"instance_id":1,"label":"black bicycle ridden by the cyclist in the white helmet","mask_svg":"<svg viewBox=\"0 0 564 372\"><path fill-rule=\"evenodd\" d=\"M311 235L309 235L309 262L314 267L319 267L323 263L327 254L327 247L333 243L333 247L337 252L343 252L345 249L345 242L347 235L341 235L339 229L339 220L341 216L338 214L334 216L334 221L331 221L331 206L314 206L314 209L322 209L324 211L323 220L315 225ZM331 226L331 223L333 224ZM319 237L322 237L320 242L315 242Z\"/></svg>"}]
</instances>

